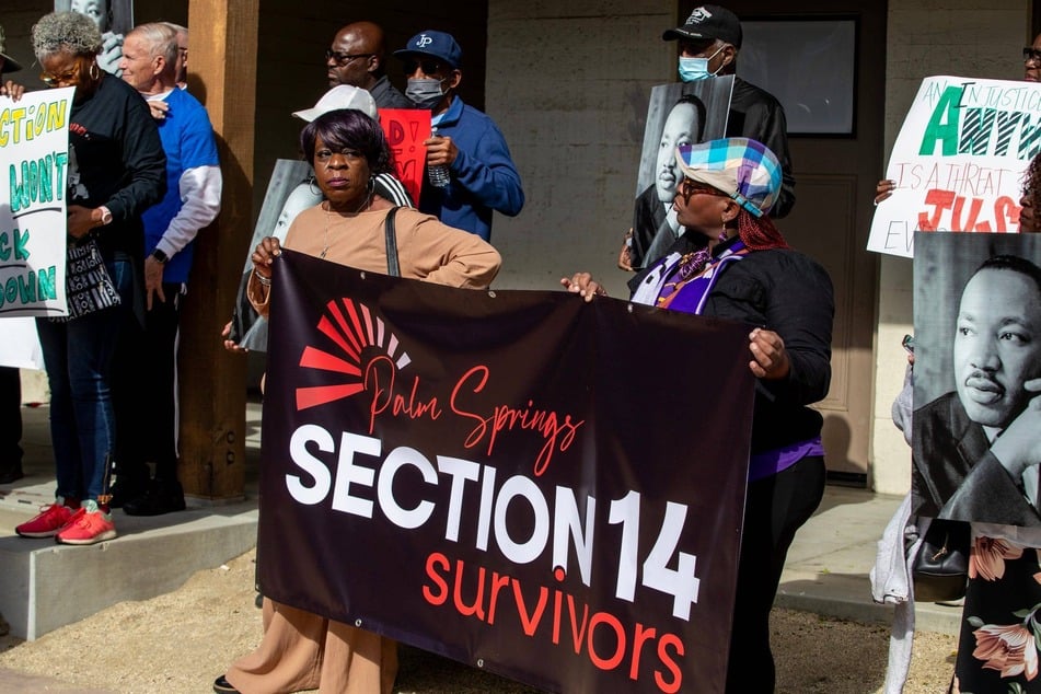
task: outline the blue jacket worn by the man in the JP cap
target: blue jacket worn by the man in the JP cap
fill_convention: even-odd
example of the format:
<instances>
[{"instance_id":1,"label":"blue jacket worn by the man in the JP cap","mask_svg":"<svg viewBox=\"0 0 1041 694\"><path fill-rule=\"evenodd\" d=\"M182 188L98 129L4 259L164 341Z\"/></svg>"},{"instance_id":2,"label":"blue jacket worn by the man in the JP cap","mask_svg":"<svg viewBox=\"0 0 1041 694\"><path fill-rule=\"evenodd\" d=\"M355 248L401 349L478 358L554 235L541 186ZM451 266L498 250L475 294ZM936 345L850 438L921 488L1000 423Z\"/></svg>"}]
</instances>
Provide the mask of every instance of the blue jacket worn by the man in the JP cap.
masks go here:
<instances>
[{"instance_id":1,"label":"blue jacket worn by the man in the JP cap","mask_svg":"<svg viewBox=\"0 0 1041 694\"><path fill-rule=\"evenodd\" d=\"M488 241L493 210L514 217L524 206L520 174L506 139L491 118L459 96L441 116L437 131L452 138L459 157L452 162L448 187L436 188L424 178L419 210Z\"/></svg>"}]
</instances>

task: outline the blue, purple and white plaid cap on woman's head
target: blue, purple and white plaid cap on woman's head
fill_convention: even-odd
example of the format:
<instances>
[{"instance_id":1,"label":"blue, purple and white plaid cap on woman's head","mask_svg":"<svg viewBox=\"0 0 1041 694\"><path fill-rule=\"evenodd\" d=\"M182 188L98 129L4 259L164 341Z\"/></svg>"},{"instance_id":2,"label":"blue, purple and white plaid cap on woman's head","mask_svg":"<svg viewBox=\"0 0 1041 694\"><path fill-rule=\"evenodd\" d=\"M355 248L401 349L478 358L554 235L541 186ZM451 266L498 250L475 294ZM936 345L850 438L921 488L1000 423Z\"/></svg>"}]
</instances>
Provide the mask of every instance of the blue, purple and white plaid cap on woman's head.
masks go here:
<instances>
[{"instance_id":1,"label":"blue, purple and white plaid cap on woman's head","mask_svg":"<svg viewBox=\"0 0 1041 694\"><path fill-rule=\"evenodd\" d=\"M726 193L755 217L770 212L780 193L780 163L749 138L681 144L676 163L683 175Z\"/></svg>"}]
</instances>

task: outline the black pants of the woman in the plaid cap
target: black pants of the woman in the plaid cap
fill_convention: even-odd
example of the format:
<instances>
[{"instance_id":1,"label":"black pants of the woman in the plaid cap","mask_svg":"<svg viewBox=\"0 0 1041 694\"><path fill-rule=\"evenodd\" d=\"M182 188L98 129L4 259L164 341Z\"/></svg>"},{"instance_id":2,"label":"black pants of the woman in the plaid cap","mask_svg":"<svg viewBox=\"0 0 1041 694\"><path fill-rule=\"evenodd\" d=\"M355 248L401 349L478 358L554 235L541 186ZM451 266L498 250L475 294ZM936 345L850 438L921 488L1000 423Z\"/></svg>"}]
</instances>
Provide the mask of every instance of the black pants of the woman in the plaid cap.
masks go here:
<instances>
[{"instance_id":1,"label":"black pants of the woman in the plaid cap","mask_svg":"<svg viewBox=\"0 0 1041 694\"><path fill-rule=\"evenodd\" d=\"M770 611L795 533L824 496L824 459L803 458L787 470L749 484L730 633L727 692L774 691Z\"/></svg>"}]
</instances>

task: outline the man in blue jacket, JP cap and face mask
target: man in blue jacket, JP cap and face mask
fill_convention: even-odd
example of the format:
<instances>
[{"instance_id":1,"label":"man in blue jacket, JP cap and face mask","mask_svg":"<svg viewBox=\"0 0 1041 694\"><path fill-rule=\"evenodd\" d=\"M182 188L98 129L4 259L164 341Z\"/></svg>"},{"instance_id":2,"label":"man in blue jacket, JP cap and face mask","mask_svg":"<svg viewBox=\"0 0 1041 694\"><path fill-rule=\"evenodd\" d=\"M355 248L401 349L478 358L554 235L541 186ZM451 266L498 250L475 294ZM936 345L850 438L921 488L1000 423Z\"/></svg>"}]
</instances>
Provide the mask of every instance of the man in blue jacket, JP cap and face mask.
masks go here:
<instances>
[{"instance_id":1,"label":"man in blue jacket, JP cap and face mask","mask_svg":"<svg viewBox=\"0 0 1041 694\"><path fill-rule=\"evenodd\" d=\"M394 55L404 62L408 78L405 95L416 107L431 112L436 132L424 142L427 167L449 167L444 187L424 178L419 209L489 241L491 211L514 217L524 206L524 192L499 128L455 94L463 77L462 48L451 34L426 31Z\"/></svg>"}]
</instances>

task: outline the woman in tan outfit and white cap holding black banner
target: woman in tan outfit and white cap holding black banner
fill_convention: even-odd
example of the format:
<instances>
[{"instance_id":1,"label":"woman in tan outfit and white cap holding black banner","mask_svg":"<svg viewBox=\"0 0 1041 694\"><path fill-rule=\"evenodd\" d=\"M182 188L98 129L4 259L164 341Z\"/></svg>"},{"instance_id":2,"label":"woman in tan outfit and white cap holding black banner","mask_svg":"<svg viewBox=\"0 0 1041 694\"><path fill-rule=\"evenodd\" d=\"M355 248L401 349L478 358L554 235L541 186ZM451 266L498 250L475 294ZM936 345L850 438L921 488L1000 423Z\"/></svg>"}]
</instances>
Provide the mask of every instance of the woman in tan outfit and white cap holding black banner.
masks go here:
<instances>
[{"instance_id":1,"label":"woman in tan outfit and white cap holding black banner","mask_svg":"<svg viewBox=\"0 0 1041 694\"><path fill-rule=\"evenodd\" d=\"M373 178L390 172L391 153L379 123L354 109L331 111L300 135L324 201L301 212L286 247L373 273L386 273L385 225L396 210L401 276L483 289L499 270L498 252L476 234L436 217L395 207L377 194ZM250 300L267 316L271 264L281 243L261 241L253 253ZM317 689L349 694L390 694L397 673L397 645L342 622L264 600L261 646L213 683L216 692L296 692Z\"/></svg>"}]
</instances>

